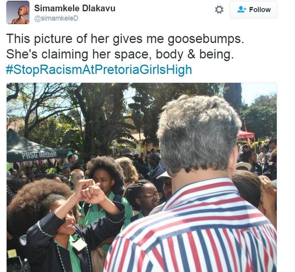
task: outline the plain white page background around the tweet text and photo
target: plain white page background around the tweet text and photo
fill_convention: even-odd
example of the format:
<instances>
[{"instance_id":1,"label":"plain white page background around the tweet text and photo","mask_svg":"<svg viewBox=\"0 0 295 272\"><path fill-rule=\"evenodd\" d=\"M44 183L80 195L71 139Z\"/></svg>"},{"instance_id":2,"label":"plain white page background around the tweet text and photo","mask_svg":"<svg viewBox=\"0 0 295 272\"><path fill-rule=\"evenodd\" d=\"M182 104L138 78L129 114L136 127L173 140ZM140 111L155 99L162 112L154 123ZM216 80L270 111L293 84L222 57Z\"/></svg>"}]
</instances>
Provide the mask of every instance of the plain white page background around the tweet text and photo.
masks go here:
<instances>
[{"instance_id":1,"label":"plain white page background around the tweet text and photo","mask_svg":"<svg viewBox=\"0 0 295 272\"><path fill-rule=\"evenodd\" d=\"M116 12L63 12L61 14L54 12L36 12L35 4L42 5L72 5L76 4L82 7L82 4L115 5ZM224 12L217 14L215 7L222 5ZM8 82L265 82L277 83L277 136L278 136L278 271L290 271L289 264L293 263L295 243L294 226L294 174L293 174L293 132L294 132L294 20L295 11L294 2L277 1L277 19L231 19L229 17L229 1L30 1L30 23L28 25L6 24L6 2L2 1L1 10L1 62L0 75L2 87L2 106L1 109L1 127L2 144L0 165L3 165L3 181L1 190L2 207L5 207L5 90ZM17 14L17 11L16 11ZM35 22L35 15L78 15L78 21L68 22ZM17 18L16 16L15 18ZM291 21L293 20L293 21ZM207 35L232 35L241 36L243 44L210 45L210 44L187 44L167 46L164 43L150 46L142 44L128 44L113 47L108 44L82 44L76 43L70 45L51 45L44 44L34 47L30 44L8 44L6 33L16 34L59 34L59 35L84 35L93 33L98 35L193 35L198 36L203 33ZM72 48L86 48L92 50L147 50L152 54L155 48L167 50L188 50L190 48L200 48L204 50L230 50L234 59L226 62L224 60L183 60L181 63L187 63L193 67L193 74L183 77L163 76L163 75L54 75L54 76L36 76L30 75L6 75L5 66L7 64L57 64L66 63L69 65L85 64L79 60L8 60L6 50L8 48L17 48L19 50L33 49L43 51L47 48L70 50ZM183 48L183 49L182 49ZM90 54L91 55L91 54ZM177 61L155 60L153 64L179 64ZM125 61L120 63L118 60L92 61L88 63L103 63L107 65L123 64L136 65L138 63L150 63L149 61ZM3 258L2 265L5 266L5 222L6 214L3 213L1 229L1 252ZM288 267L284 270L284 267Z\"/></svg>"}]
</instances>

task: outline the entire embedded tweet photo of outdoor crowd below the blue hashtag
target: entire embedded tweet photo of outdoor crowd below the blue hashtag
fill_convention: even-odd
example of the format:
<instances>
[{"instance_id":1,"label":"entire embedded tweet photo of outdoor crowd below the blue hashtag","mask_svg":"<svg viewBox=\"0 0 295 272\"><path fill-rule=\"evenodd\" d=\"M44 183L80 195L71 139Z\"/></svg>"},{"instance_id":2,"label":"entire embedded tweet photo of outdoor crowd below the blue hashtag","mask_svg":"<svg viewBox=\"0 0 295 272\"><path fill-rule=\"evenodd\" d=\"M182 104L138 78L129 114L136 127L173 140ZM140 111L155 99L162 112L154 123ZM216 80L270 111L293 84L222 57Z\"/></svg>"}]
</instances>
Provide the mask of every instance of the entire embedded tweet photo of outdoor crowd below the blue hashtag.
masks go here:
<instances>
[{"instance_id":1,"label":"entire embedded tweet photo of outdoor crowd below the blue hashtag","mask_svg":"<svg viewBox=\"0 0 295 272\"><path fill-rule=\"evenodd\" d=\"M257 252L254 267L276 267L275 83L6 91L8 269L243 270L246 256L216 254L233 245Z\"/></svg>"}]
</instances>

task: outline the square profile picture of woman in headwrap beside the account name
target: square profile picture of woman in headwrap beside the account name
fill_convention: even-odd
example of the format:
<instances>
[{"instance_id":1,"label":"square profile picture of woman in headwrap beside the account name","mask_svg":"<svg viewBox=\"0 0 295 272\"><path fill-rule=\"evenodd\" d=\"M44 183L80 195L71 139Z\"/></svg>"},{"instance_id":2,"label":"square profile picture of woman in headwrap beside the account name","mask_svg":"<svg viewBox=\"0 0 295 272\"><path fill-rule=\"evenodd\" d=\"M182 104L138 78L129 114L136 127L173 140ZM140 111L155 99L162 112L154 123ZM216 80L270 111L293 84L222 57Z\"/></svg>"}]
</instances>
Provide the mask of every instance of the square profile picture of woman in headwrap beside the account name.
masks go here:
<instances>
[{"instance_id":1,"label":"square profile picture of woman in headwrap beside the account name","mask_svg":"<svg viewBox=\"0 0 295 272\"><path fill-rule=\"evenodd\" d=\"M6 23L7 24L28 24L30 22L29 1L7 1L6 2Z\"/></svg>"}]
</instances>

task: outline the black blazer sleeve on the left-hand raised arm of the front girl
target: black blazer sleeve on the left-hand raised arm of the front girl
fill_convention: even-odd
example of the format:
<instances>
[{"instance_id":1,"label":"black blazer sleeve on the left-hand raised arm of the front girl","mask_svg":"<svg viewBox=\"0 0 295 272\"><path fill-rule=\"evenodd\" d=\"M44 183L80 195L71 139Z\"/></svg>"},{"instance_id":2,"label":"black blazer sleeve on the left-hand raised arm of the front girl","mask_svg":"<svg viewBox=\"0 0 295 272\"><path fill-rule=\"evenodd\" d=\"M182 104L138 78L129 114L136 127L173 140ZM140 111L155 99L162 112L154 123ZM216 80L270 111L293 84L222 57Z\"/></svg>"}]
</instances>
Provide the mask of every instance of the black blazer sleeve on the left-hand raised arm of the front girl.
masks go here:
<instances>
[{"instance_id":1,"label":"black blazer sleeve on the left-hand raised arm of the front girl","mask_svg":"<svg viewBox=\"0 0 295 272\"><path fill-rule=\"evenodd\" d=\"M54 212L50 212L19 238L21 250L31 264L43 262L50 239L64 222Z\"/></svg>"}]
</instances>

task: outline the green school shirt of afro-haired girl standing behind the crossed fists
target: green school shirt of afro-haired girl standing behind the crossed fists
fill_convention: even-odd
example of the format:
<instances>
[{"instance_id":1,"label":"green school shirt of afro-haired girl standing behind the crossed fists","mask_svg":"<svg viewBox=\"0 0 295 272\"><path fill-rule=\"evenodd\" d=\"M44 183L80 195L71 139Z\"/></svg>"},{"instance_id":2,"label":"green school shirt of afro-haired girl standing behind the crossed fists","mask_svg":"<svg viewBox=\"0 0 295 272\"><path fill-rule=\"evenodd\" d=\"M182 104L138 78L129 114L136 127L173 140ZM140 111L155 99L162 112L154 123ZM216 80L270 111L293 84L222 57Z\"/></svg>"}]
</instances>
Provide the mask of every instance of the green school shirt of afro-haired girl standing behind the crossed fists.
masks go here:
<instances>
[{"instance_id":1,"label":"green school shirt of afro-haired girl standing behind the crossed fists","mask_svg":"<svg viewBox=\"0 0 295 272\"><path fill-rule=\"evenodd\" d=\"M115 196L115 194L111 191L111 193L109 194L108 199L113 201L114 196ZM131 205L129 204L127 199L125 199L124 197L122 197L121 203L125 206L125 221L128 220L128 219L130 220L130 218L132 216L134 216ZM102 209L102 208L100 210L98 210L97 204L90 204L88 212L87 212L87 214L85 216L84 205L85 204L83 204L82 209L81 209L81 214L84 215L84 217L80 217L79 220L78 220L79 224L83 225L83 228L86 228L92 222L97 221L100 218L105 216L105 210ZM102 249L105 250L106 252L108 252L109 248L110 248L110 245L108 245L108 244L104 244L102 246Z\"/></svg>"}]
</instances>

